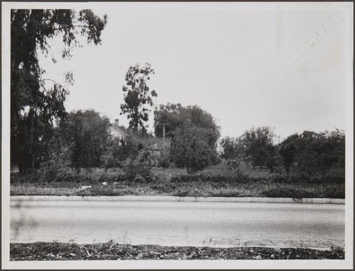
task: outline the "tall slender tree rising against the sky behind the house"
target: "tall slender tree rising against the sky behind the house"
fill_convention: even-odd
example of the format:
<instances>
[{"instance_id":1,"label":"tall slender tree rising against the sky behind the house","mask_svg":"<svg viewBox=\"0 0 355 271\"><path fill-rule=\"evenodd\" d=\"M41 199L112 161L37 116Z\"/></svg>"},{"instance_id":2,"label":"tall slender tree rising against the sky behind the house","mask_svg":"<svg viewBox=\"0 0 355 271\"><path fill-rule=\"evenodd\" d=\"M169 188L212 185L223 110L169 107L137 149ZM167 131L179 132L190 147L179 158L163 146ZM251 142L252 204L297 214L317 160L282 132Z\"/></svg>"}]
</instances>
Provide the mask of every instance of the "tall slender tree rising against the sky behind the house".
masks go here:
<instances>
[{"instance_id":1,"label":"tall slender tree rising against the sky behind the house","mask_svg":"<svg viewBox=\"0 0 355 271\"><path fill-rule=\"evenodd\" d=\"M121 115L127 114L129 129L136 134L146 134L145 123L151 111L149 107L153 106L153 97L157 96L155 90L149 90L146 83L151 74L154 74L154 70L148 63L142 68L138 64L132 66L126 73L126 86L122 87L125 103L121 105Z\"/></svg>"}]
</instances>

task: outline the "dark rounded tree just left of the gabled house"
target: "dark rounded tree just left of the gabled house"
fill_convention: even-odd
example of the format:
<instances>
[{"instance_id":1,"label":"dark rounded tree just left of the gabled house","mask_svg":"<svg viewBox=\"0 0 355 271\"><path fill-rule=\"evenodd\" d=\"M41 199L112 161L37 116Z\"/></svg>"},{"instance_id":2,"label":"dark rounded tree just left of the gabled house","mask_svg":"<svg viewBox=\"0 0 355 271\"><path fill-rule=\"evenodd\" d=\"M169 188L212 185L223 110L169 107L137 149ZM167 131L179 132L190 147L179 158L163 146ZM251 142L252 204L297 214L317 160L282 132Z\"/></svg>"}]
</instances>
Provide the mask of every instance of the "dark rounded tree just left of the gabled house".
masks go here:
<instances>
[{"instance_id":1,"label":"dark rounded tree just left of the gabled house","mask_svg":"<svg viewBox=\"0 0 355 271\"><path fill-rule=\"evenodd\" d=\"M60 124L60 134L69 145L72 166L88 169L101 166L109 141L109 119L94 110L70 112Z\"/></svg>"}]
</instances>

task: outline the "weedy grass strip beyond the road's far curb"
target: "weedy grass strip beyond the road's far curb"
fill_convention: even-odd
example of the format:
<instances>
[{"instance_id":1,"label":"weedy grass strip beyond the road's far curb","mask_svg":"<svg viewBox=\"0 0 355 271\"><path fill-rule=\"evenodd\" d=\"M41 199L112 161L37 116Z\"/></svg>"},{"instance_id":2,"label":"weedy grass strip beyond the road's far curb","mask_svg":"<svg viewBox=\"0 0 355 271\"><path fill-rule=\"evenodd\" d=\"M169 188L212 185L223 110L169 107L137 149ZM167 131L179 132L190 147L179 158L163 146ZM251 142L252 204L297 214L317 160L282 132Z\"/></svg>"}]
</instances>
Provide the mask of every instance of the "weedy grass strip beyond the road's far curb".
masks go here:
<instances>
[{"instance_id":1,"label":"weedy grass strip beyond the road's far curb","mask_svg":"<svg viewBox=\"0 0 355 271\"><path fill-rule=\"evenodd\" d=\"M91 188L81 189L82 186ZM120 169L80 171L69 181L38 181L35 175L11 176L12 196L227 196L344 198L344 178L270 174L244 169L230 173L212 167L188 175L185 169L153 169L150 179L127 179Z\"/></svg>"}]
</instances>

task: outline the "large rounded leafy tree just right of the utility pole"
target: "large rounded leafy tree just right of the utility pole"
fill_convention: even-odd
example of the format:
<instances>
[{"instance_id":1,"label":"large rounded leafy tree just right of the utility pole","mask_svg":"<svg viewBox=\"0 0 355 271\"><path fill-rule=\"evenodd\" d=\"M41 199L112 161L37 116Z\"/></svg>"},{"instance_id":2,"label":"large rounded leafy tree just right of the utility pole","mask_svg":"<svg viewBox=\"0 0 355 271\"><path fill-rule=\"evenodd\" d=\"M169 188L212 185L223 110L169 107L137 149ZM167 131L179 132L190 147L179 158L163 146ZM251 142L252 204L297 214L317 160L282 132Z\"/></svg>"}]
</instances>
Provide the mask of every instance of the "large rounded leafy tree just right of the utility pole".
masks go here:
<instances>
[{"instance_id":1,"label":"large rounded leafy tree just right of the utility pole","mask_svg":"<svg viewBox=\"0 0 355 271\"><path fill-rule=\"evenodd\" d=\"M180 104L160 105L154 112L155 136L171 137L170 161L179 167L187 167L189 173L217 163L217 139L219 127L209 112L197 105L183 107Z\"/></svg>"}]
</instances>

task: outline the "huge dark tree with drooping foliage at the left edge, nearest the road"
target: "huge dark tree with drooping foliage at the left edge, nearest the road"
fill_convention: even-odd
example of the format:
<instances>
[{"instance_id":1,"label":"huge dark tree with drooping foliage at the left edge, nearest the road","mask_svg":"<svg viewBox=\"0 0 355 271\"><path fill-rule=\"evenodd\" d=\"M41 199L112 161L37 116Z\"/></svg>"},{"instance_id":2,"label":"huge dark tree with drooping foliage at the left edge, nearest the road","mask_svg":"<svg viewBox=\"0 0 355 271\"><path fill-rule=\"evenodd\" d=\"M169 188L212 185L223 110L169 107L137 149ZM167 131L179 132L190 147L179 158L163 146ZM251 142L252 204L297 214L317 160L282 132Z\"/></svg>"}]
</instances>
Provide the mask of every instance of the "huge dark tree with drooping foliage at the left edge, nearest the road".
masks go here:
<instances>
[{"instance_id":1,"label":"huge dark tree with drooping foliage at the left edge, nearest the road","mask_svg":"<svg viewBox=\"0 0 355 271\"><path fill-rule=\"evenodd\" d=\"M48 53L48 40L62 36L62 58L68 58L78 36L101 43L106 23L107 16L99 18L91 10L11 10L11 164L21 172L38 168L47 156L53 122L65 116L68 91L59 83L45 84L50 79L43 78L38 53ZM72 83L72 75L66 80Z\"/></svg>"}]
</instances>

